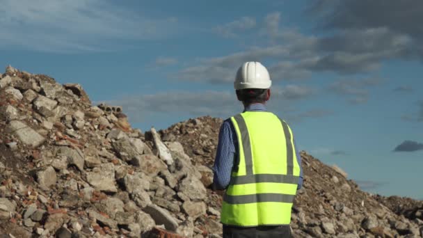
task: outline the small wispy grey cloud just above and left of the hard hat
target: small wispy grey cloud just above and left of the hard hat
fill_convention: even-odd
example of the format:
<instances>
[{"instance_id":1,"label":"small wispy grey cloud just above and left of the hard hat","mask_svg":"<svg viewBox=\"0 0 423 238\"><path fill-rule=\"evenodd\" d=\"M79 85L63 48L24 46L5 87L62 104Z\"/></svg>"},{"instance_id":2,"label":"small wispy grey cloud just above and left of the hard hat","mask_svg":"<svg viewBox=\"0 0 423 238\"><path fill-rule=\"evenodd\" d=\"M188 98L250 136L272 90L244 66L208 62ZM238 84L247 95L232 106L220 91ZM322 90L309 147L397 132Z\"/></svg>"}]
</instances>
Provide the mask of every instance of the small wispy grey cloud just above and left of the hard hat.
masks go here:
<instances>
[{"instance_id":1,"label":"small wispy grey cloud just above and left of the hard hat","mask_svg":"<svg viewBox=\"0 0 423 238\"><path fill-rule=\"evenodd\" d=\"M241 19L234 20L222 26L216 26L213 30L224 37L235 37L237 33L253 29L256 26L253 17L241 17Z\"/></svg>"}]
</instances>

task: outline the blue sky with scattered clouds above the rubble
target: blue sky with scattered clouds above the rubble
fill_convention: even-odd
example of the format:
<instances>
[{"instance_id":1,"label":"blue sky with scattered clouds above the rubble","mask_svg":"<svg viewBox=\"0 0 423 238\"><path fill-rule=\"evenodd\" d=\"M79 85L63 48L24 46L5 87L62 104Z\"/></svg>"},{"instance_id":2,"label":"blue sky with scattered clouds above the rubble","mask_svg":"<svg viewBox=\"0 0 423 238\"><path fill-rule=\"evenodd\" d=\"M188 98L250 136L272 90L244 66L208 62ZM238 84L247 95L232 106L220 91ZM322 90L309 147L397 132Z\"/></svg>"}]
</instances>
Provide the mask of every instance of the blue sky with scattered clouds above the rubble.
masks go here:
<instances>
[{"instance_id":1,"label":"blue sky with scattered clouds above the rubble","mask_svg":"<svg viewBox=\"0 0 423 238\"><path fill-rule=\"evenodd\" d=\"M298 148L363 189L423 198L423 3L0 0L0 65L82 84L144 131L241 111L237 68L269 68ZM383 14L381 14L383 13Z\"/></svg>"}]
</instances>

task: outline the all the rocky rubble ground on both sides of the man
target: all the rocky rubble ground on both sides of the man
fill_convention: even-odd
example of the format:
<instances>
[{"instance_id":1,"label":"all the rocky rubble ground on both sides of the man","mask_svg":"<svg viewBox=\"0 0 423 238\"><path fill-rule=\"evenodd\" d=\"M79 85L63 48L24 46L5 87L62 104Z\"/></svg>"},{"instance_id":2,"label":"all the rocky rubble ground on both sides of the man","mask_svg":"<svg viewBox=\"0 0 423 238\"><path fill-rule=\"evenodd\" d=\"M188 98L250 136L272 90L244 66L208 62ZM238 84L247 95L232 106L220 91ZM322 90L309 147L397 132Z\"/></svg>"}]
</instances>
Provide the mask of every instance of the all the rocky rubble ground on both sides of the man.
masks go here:
<instances>
[{"instance_id":1,"label":"all the rocky rubble ground on both sides of the man","mask_svg":"<svg viewBox=\"0 0 423 238\"><path fill-rule=\"evenodd\" d=\"M221 237L211 191L222 120L156 132L79 84L0 74L0 237ZM423 202L374 196L301 152L295 237L421 237Z\"/></svg>"}]
</instances>

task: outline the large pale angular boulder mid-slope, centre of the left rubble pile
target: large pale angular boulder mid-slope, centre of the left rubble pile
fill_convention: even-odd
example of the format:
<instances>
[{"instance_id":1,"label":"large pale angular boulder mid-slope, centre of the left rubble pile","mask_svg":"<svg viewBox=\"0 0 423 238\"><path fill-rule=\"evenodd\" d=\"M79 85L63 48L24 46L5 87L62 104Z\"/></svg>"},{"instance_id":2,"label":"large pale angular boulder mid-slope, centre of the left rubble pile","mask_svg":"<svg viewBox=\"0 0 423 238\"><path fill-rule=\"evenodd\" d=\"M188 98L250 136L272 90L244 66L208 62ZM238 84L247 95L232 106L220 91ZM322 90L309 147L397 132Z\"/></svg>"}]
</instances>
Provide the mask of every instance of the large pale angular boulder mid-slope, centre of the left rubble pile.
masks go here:
<instances>
[{"instance_id":1,"label":"large pale angular boulder mid-slope, centre of the left rubble pile","mask_svg":"<svg viewBox=\"0 0 423 238\"><path fill-rule=\"evenodd\" d=\"M88 183L99 191L115 193L118 189L115 186L115 169L113 164L102 164L94 168L93 172L87 173Z\"/></svg>"}]
</instances>

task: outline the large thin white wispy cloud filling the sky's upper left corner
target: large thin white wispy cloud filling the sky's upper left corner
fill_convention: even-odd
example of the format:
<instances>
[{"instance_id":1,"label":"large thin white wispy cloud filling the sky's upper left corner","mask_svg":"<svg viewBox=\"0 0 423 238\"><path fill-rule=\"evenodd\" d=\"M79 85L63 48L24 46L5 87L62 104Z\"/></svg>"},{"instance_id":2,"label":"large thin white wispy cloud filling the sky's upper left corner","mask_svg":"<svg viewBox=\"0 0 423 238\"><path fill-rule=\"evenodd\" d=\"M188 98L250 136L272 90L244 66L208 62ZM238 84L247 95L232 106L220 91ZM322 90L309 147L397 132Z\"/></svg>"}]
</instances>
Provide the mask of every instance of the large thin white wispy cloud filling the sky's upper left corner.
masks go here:
<instances>
[{"instance_id":1,"label":"large thin white wispy cloud filling the sky's upper left corner","mask_svg":"<svg viewBox=\"0 0 423 238\"><path fill-rule=\"evenodd\" d=\"M150 19L109 0L2 0L0 47L104 51L113 40L163 38L176 24L175 18Z\"/></svg>"}]
</instances>

